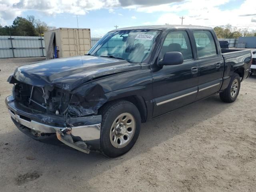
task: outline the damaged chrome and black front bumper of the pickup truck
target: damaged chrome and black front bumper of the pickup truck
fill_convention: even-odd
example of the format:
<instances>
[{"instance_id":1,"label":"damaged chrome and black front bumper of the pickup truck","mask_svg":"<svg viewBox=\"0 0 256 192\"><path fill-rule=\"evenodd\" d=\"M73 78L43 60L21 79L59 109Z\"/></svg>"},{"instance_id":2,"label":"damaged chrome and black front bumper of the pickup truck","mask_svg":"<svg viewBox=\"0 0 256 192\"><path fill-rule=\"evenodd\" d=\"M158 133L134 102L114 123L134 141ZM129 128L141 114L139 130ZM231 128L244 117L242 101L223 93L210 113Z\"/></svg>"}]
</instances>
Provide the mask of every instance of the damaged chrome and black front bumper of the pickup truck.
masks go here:
<instances>
[{"instance_id":1,"label":"damaged chrome and black front bumper of the pickup truck","mask_svg":"<svg viewBox=\"0 0 256 192\"><path fill-rule=\"evenodd\" d=\"M100 115L70 118L69 122L73 126L67 127L64 116L35 112L15 102L12 95L6 98L5 103L19 130L35 140L54 136L64 144L85 153L89 153L91 148L97 150L100 146Z\"/></svg>"}]
</instances>

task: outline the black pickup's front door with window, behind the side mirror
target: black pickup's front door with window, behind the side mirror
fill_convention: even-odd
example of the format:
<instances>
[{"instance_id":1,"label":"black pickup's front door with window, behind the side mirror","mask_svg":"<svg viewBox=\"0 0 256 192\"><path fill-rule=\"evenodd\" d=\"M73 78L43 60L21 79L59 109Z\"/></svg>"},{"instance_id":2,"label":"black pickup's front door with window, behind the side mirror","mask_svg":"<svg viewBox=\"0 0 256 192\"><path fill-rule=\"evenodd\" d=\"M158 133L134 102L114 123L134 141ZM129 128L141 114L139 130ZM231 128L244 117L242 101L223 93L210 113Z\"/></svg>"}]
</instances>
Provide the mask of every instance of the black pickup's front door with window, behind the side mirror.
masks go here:
<instances>
[{"instance_id":1,"label":"black pickup's front door with window, behind the side mirror","mask_svg":"<svg viewBox=\"0 0 256 192\"><path fill-rule=\"evenodd\" d=\"M166 34L158 61L163 59L166 52L175 51L183 54L182 64L152 68L154 117L196 100L198 65L186 30L175 30Z\"/></svg>"}]
</instances>

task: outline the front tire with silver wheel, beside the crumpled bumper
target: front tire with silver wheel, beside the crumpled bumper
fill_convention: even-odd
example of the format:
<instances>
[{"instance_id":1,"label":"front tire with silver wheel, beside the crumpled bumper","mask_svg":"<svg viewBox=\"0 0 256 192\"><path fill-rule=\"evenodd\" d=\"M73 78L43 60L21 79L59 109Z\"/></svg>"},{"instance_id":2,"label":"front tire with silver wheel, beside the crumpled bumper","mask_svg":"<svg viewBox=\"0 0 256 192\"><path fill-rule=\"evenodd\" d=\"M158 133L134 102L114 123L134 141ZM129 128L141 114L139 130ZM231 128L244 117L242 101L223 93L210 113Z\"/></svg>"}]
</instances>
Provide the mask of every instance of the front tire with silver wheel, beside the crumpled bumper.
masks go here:
<instances>
[{"instance_id":1,"label":"front tire with silver wheel, beside the crumpled bumper","mask_svg":"<svg viewBox=\"0 0 256 192\"><path fill-rule=\"evenodd\" d=\"M140 134L141 117L138 108L131 102L119 100L103 106L99 114L102 115L101 152L109 157L118 157L128 152Z\"/></svg>"}]
</instances>

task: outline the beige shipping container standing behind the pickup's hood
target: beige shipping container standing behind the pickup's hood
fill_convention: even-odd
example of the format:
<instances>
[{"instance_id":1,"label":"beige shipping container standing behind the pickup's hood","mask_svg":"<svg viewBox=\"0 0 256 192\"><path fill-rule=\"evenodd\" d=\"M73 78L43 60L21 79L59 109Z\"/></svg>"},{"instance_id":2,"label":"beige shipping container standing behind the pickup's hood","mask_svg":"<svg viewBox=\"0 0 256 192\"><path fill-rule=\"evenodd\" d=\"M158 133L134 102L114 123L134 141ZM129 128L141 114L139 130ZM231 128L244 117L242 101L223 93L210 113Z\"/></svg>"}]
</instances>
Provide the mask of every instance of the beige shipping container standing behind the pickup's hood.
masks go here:
<instances>
[{"instance_id":1,"label":"beige shipping container standing behind the pickup's hood","mask_svg":"<svg viewBox=\"0 0 256 192\"><path fill-rule=\"evenodd\" d=\"M58 47L58 56L71 57L86 54L91 48L90 29L58 28L44 33L46 52L52 32L55 32L55 42ZM50 51L50 58L54 56L54 47Z\"/></svg>"}]
</instances>

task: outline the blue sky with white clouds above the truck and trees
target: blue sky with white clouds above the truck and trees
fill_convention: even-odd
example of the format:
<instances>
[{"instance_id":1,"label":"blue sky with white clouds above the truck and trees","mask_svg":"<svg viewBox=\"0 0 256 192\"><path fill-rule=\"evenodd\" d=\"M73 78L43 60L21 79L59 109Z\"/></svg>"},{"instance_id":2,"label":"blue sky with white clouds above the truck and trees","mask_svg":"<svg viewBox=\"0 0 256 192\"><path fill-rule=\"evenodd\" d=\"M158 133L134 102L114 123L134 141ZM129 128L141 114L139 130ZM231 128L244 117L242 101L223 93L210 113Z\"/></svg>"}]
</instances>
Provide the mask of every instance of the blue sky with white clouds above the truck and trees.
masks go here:
<instances>
[{"instance_id":1,"label":"blue sky with white clouds above the truck and trees","mask_svg":"<svg viewBox=\"0 0 256 192\"><path fill-rule=\"evenodd\" d=\"M49 26L90 28L92 36L138 25L183 24L256 27L255 0L0 0L0 24L34 15Z\"/></svg>"}]
</instances>

